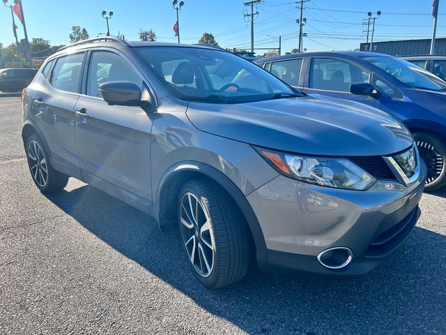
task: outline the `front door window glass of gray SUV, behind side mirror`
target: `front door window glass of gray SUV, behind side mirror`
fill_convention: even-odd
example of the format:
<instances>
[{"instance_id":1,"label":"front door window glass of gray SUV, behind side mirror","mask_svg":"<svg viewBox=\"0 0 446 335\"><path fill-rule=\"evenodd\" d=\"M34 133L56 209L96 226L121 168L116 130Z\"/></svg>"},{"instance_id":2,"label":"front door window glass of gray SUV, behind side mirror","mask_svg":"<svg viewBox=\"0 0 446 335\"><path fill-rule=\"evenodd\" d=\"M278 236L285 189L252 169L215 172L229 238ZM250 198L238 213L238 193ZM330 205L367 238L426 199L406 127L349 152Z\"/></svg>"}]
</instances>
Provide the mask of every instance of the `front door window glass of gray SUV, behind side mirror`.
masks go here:
<instances>
[{"instance_id":1,"label":"front door window glass of gray SUV, behind side mirror","mask_svg":"<svg viewBox=\"0 0 446 335\"><path fill-rule=\"evenodd\" d=\"M99 85L103 82L124 81L137 84L143 91L142 79L123 57L109 51L95 51L91 55L86 85L88 96L100 97Z\"/></svg>"}]
</instances>

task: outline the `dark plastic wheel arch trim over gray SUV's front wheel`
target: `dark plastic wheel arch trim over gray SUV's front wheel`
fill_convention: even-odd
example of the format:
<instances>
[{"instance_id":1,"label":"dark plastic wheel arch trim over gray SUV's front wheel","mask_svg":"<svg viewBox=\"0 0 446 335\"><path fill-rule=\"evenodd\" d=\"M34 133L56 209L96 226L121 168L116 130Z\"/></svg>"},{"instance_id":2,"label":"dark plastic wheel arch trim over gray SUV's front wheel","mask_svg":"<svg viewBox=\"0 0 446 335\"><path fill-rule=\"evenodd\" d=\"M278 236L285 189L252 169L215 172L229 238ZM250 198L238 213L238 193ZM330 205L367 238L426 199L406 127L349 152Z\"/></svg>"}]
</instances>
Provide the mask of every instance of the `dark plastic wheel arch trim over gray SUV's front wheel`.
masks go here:
<instances>
[{"instance_id":1,"label":"dark plastic wheel arch trim over gray SUV's front wheel","mask_svg":"<svg viewBox=\"0 0 446 335\"><path fill-rule=\"evenodd\" d=\"M213 168L210 165L196 162L196 161L183 161L180 163L176 163L172 165L160 179L160 183L157 187L157 193L155 195L155 203L153 212L155 217L157 218L158 224L160 223L159 215L160 215L160 198L162 188L169 183L169 180L173 178L179 172L198 172L199 174L203 174L210 179L213 179L215 182L220 184L224 190L231 195L233 200L236 202L240 210L242 211L243 216L245 216L245 220L249 225L249 230L251 230L251 234L254 240L254 245L256 247L256 260L259 265L259 268L263 271L268 271L268 260L267 260L267 251L266 251L266 243L265 238L263 237L263 232L260 228L259 221L257 220L256 214L252 210L251 205L243 195L240 188L236 186L236 184L231 181L228 177L226 177L222 172Z\"/></svg>"}]
</instances>

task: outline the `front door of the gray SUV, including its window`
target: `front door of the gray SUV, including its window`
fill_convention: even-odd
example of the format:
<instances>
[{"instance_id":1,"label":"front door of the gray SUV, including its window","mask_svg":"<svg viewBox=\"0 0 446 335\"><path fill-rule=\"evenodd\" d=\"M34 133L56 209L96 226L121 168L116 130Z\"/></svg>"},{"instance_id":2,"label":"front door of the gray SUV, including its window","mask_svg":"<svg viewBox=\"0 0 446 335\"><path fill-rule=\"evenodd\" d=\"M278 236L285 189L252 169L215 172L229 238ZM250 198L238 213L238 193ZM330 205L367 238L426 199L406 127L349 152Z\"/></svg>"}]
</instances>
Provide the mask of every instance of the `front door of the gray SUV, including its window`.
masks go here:
<instances>
[{"instance_id":1,"label":"front door of the gray SUV, including its window","mask_svg":"<svg viewBox=\"0 0 446 335\"><path fill-rule=\"evenodd\" d=\"M87 71L85 94L76 104L76 141L82 178L118 198L116 193L125 193L125 200L149 199L153 110L108 105L99 91L102 82L130 81L144 95L143 77L128 59L107 50L90 53Z\"/></svg>"}]
</instances>

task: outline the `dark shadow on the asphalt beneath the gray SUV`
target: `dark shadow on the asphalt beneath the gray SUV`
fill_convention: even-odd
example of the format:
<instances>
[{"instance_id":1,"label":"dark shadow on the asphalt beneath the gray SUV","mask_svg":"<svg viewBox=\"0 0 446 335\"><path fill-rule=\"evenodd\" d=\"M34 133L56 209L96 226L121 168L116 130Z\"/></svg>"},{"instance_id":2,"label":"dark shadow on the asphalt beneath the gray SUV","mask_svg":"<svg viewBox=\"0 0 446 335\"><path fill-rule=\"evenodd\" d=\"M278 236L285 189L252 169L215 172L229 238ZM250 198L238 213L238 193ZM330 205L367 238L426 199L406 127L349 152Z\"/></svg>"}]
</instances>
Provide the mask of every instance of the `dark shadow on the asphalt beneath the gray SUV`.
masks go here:
<instances>
[{"instance_id":1,"label":"dark shadow on the asphalt beneath the gray SUV","mask_svg":"<svg viewBox=\"0 0 446 335\"><path fill-rule=\"evenodd\" d=\"M91 186L46 196L116 251L250 334L446 332L441 234L415 228L394 258L359 279L257 270L227 288L206 290L186 266L177 232L163 234L153 218Z\"/></svg>"}]
</instances>

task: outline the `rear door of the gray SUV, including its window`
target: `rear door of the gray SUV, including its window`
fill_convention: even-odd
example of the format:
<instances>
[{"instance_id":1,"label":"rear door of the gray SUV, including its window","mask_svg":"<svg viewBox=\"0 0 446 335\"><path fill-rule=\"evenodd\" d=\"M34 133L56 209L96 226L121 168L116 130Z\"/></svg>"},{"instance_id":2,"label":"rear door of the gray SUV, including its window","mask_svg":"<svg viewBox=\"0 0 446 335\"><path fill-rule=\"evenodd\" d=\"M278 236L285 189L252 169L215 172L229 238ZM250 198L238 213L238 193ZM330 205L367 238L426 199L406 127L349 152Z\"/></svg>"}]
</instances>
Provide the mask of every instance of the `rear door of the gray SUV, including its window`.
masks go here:
<instances>
[{"instance_id":1,"label":"rear door of the gray SUV, including its window","mask_svg":"<svg viewBox=\"0 0 446 335\"><path fill-rule=\"evenodd\" d=\"M80 95L84 55L78 52L56 59L49 81L43 77L32 94L34 121L45 136L54 168L74 177L80 176L74 110Z\"/></svg>"}]
</instances>

